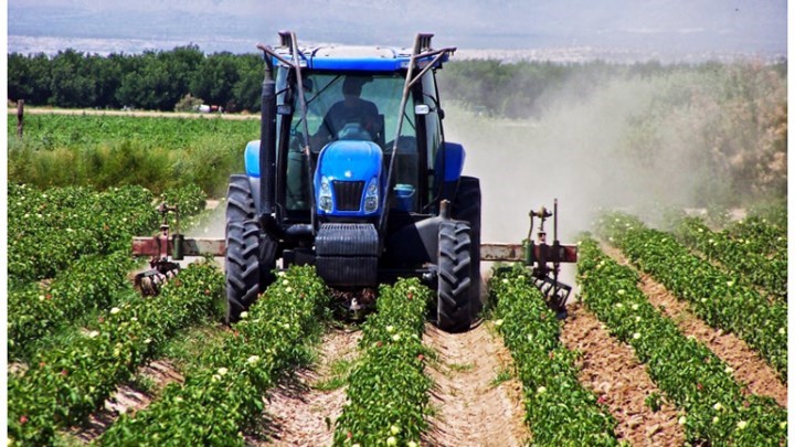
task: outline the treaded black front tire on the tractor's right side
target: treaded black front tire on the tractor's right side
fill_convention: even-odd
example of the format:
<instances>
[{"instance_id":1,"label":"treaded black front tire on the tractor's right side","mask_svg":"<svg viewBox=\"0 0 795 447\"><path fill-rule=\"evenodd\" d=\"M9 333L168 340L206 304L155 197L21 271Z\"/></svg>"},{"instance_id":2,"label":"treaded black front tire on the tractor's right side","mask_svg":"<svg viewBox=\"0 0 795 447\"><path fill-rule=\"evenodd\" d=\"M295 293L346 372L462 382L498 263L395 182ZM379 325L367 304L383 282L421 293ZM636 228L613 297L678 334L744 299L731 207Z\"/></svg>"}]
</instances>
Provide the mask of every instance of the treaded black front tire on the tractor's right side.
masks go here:
<instances>
[{"instance_id":1,"label":"treaded black front tire on the tractor's right side","mask_svg":"<svg viewBox=\"0 0 795 447\"><path fill-rule=\"evenodd\" d=\"M464 332L471 326L470 245L469 225L466 222L442 222L437 259L437 324L447 332Z\"/></svg>"}]
</instances>

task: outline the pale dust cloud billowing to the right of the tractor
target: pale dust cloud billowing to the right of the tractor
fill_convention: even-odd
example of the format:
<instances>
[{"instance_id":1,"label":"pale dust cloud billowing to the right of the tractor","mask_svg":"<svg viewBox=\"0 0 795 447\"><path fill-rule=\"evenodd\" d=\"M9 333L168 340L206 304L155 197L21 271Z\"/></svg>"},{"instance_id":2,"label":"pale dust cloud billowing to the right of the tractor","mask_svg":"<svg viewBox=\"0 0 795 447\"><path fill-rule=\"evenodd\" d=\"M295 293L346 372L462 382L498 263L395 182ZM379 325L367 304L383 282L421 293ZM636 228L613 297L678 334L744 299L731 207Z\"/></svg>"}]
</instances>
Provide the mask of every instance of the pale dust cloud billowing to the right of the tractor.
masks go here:
<instances>
[{"instance_id":1,"label":"pale dust cloud billowing to the right of the tractor","mask_svg":"<svg viewBox=\"0 0 795 447\"><path fill-rule=\"evenodd\" d=\"M582 81L582 79L581 79ZM528 213L559 201L559 238L591 228L600 207L686 205L704 174L693 160L698 148L680 128L654 129L655 147L627 150L647 117L659 85L644 79L606 83L587 97L545 98L543 115L511 120L446 110L445 138L464 145L464 173L480 178L483 241L518 243L527 237ZM682 121L687 121L686 117ZM647 137L636 138L644 141ZM662 141L659 141L659 140ZM552 235L551 223L547 226ZM551 240L551 237L550 237Z\"/></svg>"}]
</instances>

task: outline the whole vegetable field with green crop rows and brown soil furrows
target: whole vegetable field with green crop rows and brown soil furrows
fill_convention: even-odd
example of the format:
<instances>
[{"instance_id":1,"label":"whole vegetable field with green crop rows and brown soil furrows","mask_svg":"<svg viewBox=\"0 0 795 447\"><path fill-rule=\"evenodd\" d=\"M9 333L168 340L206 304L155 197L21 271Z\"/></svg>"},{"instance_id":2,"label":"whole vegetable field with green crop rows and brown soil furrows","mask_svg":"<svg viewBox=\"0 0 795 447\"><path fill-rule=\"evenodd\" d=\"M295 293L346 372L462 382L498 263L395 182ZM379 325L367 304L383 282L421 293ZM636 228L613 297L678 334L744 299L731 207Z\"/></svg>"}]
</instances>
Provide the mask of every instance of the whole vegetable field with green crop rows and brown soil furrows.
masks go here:
<instances>
[{"instance_id":1,"label":"whole vegetable field with green crop rows and brown soil furrows","mask_svg":"<svg viewBox=\"0 0 795 447\"><path fill-rule=\"evenodd\" d=\"M10 141L9 445L787 444L785 207L665 230L602 213L580 228L563 320L506 265L484 266L481 320L458 334L433 327L417 279L341 319L309 266L277 272L231 326L223 263L144 298L130 238L158 231L162 201L189 228L223 214L205 207L223 196L212 175L257 125L39 115ZM229 159L190 161L213 145ZM162 175L103 171L158 157ZM49 182L64 160L80 175Z\"/></svg>"}]
</instances>

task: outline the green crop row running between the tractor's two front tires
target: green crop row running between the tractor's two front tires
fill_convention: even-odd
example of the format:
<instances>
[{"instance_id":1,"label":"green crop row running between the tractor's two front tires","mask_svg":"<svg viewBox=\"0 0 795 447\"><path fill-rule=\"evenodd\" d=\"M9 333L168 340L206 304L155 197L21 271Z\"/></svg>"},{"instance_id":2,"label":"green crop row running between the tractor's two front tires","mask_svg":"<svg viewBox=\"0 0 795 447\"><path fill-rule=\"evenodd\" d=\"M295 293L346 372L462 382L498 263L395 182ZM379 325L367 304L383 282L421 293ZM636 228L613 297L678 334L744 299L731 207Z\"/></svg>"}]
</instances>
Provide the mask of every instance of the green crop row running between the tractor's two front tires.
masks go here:
<instances>
[{"instance_id":1,"label":"green crop row running between the tractor's two front tires","mask_svg":"<svg viewBox=\"0 0 795 447\"><path fill-rule=\"evenodd\" d=\"M418 445L432 385L421 339L430 297L417 279L381 286L378 312L362 329L363 354L348 381L335 445Z\"/></svg>"}]
</instances>

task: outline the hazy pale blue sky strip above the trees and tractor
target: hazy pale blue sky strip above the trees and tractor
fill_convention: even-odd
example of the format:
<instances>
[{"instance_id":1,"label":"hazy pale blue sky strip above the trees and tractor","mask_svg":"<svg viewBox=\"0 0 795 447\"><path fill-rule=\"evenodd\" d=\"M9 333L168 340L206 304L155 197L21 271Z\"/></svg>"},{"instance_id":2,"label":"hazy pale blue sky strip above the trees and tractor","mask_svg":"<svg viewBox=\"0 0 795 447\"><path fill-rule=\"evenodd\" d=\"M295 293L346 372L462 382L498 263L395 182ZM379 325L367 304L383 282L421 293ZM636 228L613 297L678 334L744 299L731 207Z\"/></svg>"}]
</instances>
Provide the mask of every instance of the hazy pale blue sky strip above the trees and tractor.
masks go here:
<instances>
[{"instance_id":1,"label":"hazy pale blue sky strip above the trees and tractor","mask_svg":"<svg viewBox=\"0 0 795 447\"><path fill-rule=\"evenodd\" d=\"M9 51L56 38L253 52L280 29L308 42L400 46L422 31L462 49L787 50L786 0L9 0L8 17Z\"/></svg>"}]
</instances>

